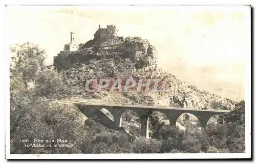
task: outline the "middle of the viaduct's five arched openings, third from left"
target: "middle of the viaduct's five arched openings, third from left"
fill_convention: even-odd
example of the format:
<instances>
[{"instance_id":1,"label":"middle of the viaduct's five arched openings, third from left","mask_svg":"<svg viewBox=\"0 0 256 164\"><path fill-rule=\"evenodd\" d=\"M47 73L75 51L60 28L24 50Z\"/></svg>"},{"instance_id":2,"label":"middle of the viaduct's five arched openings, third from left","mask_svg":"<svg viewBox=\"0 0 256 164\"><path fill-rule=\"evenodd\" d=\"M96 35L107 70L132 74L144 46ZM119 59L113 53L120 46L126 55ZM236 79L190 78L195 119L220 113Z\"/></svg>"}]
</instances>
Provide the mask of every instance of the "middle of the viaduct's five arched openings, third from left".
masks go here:
<instances>
[{"instance_id":1,"label":"middle of the viaduct's five arched openings, third from left","mask_svg":"<svg viewBox=\"0 0 256 164\"><path fill-rule=\"evenodd\" d=\"M167 129L170 121L167 116L161 112L154 111L148 118L148 133L150 138L159 138L160 132Z\"/></svg>"}]
</instances>

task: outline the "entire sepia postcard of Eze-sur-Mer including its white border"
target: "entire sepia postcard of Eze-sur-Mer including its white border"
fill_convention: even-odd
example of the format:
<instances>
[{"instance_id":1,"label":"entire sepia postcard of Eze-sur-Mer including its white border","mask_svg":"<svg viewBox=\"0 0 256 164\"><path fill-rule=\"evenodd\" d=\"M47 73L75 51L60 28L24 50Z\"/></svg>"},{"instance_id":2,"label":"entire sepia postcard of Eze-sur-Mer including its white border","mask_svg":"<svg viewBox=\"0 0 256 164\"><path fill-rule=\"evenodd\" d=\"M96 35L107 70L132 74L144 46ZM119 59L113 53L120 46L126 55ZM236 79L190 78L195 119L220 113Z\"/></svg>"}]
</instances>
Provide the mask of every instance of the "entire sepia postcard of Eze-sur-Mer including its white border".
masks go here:
<instances>
[{"instance_id":1,"label":"entire sepia postcard of Eze-sur-Mer including its white border","mask_svg":"<svg viewBox=\"0 0 256 164\"><path fill-rule=\"evenodd\" d=\"M251 6L7 5L6 159L251 157Z\"/></svg>"}]
</instances>

